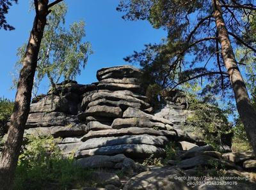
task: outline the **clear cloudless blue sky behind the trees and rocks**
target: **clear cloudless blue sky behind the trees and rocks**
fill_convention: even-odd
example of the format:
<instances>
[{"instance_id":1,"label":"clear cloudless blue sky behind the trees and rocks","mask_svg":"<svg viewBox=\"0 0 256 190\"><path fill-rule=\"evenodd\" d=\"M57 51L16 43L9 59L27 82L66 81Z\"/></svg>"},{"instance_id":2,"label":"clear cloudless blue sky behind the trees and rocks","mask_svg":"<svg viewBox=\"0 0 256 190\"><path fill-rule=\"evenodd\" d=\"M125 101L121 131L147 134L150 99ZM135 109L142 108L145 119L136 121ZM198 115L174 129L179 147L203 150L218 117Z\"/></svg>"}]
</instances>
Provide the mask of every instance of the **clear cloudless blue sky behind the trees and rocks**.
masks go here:
<instances>
[{"instance_id":1,"label":"clear cloudless blue sky behind the trees and rocks","mask_svg":"<svg viewBox=\"0 0 256 190\"><path fill-rule=\"evenodd\" d=\"M86 68L77 77L80 84L97 81L96 71L100 68L127 64L123 60L134 50L140 51L144 44L158 43L166 32L153 29L147 21L125 21L122 13L116 11L118 0L66 0L68 13L67 26L74 21L86 22L86 41L92 43L93 55L90 55ZM15 31L0 30L1 72L0 97L15 98L11 91L14 64L17 61L17 48L28 41L29 31L35 13L29 13L29 1L19 0L19 4L10 8L7 20ZM47 82L41 84L40 92L46 92Z\"/></svg>"}]
</instances>

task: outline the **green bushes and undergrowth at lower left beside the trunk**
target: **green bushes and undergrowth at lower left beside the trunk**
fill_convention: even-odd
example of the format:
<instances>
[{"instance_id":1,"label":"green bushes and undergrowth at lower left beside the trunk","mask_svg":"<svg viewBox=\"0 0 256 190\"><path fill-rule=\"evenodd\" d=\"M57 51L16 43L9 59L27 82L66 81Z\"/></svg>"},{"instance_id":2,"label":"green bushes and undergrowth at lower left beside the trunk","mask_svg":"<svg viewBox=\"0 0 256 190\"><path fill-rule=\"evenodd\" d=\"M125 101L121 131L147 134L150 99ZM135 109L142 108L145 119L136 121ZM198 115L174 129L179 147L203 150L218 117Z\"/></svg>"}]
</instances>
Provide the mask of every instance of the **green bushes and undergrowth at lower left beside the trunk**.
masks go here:
<instances>
[{"instance_id":1,"label":"green bushes and undergrowth at lower left beside the trunk","mask_svg":"<svg viewBox=\"0 0 256 190\"><path fill-rule=\"evenodd\" d=\"M19 156L15 189L70 189L84 185L91 171L62 156L52 136L27 136Z\"/></svg>"}]
</instances>

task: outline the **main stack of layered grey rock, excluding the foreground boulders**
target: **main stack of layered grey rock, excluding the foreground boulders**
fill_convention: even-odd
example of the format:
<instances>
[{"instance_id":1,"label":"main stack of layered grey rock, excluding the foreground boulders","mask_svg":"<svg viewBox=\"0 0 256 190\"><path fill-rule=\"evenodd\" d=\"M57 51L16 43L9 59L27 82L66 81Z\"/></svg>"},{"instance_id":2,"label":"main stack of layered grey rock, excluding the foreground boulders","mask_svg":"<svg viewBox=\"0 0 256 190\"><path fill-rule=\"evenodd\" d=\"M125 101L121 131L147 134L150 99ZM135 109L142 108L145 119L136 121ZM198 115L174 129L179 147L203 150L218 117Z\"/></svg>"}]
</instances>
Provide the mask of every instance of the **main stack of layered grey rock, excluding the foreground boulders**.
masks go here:
<instances>
[{"instance_id":1,"label":"main stack of layered grey rock, excluding the foreground boulders","mask_svg":"<svg viewBox=\"0 0 256 190\"><path fill-rule=\"evenodd\" d=\"M164 156L169 141L195 142L170 120L153 115L140 82L141 71L116 66L97 71L99 82L63 82L58 93L35 99L26 134L53 135L64 154L77 158L125 154L145 158Z\"/></svg>"}]
</instances>

